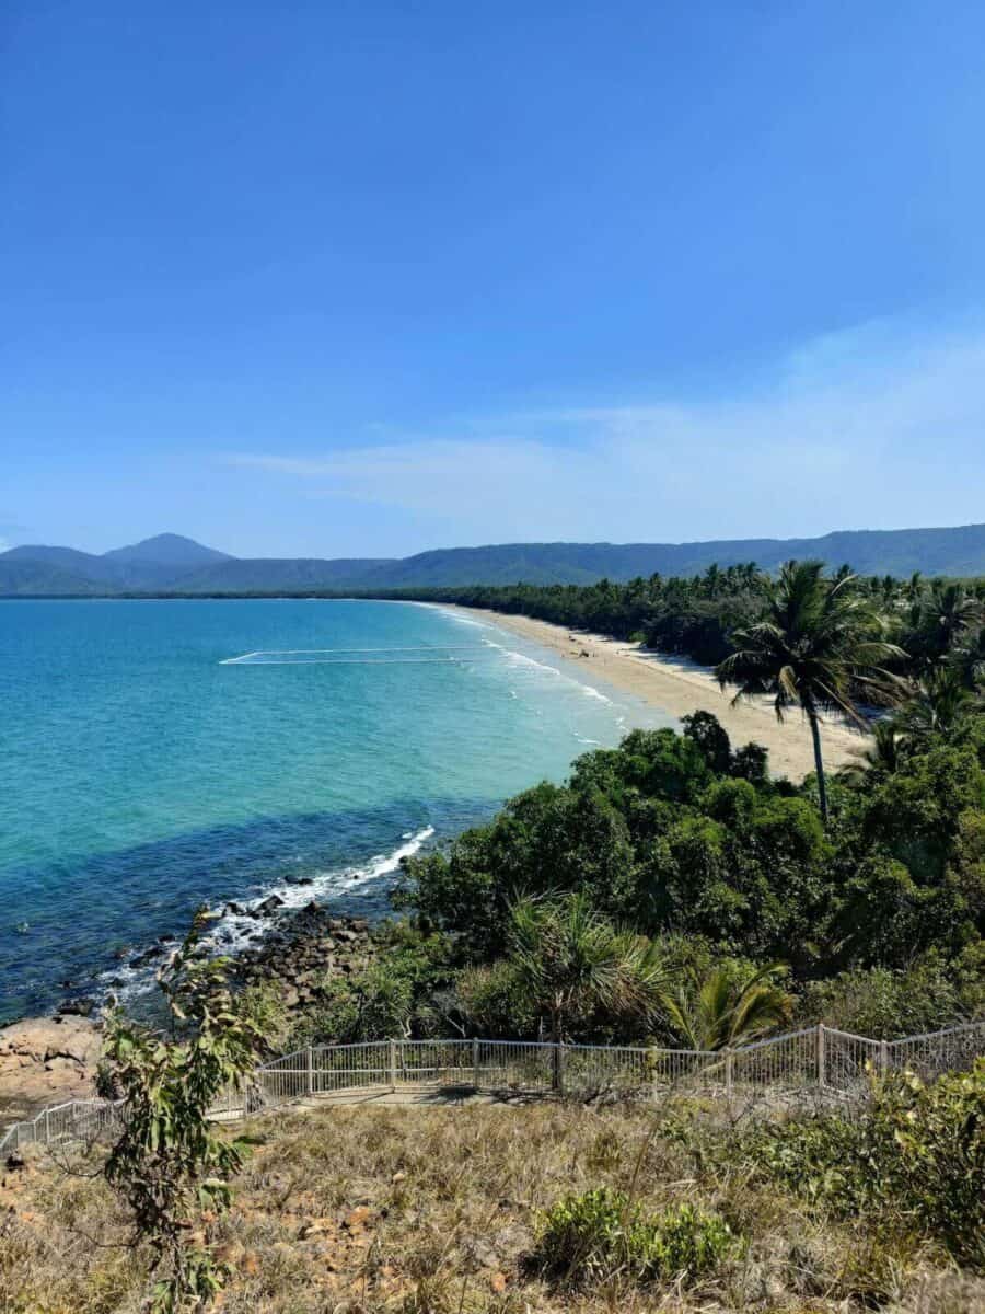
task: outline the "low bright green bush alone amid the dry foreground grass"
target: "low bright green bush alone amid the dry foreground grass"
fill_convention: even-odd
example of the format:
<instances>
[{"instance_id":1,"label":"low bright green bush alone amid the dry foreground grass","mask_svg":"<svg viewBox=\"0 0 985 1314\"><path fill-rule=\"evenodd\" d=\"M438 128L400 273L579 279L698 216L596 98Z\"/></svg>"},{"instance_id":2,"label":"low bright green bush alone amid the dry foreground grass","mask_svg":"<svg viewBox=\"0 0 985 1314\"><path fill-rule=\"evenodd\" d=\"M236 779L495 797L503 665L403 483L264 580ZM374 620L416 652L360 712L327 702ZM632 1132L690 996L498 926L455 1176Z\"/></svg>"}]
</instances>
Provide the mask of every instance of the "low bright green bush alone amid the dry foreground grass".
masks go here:
<instances>
[{"instance_id":1,"label":"low bright green bush alone amid the dry foreground grass","mask_svg":"<svg viewBox=\"0 0 985 1314\"><path fill-rule=\"evenodd\" d=\"M678 1205L647 1215L624 1192L598 1187L565 1196L541 1215L542 1272L582 1285L616 1271L638 1282L693 1281L738 1248L718 1214Z\"/></svg>"}]
</instances>

